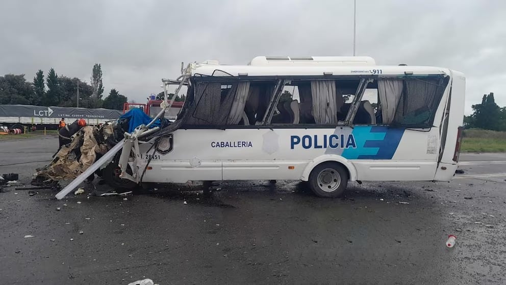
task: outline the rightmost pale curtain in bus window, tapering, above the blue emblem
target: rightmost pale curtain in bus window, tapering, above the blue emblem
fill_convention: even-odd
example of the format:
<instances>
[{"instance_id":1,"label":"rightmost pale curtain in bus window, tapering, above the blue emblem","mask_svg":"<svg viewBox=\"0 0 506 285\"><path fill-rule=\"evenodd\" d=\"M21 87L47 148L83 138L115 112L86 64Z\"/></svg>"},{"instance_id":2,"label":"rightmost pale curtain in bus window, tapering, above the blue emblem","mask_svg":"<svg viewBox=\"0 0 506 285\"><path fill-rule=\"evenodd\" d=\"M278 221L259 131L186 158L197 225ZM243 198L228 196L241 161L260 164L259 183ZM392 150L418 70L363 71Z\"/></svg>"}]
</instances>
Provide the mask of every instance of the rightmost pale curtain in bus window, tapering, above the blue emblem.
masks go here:
<instances>
[{"instance_id":1,"label":"rightmost pale curtain in bus window, tapering, above the blue emblem","mask_svg":"<svg viewBox=\"0 0 506 285\"><path fill-rule=\"evenodd\" d=\"M402 80L378 80L378 96L380 96L383 124L394 120L397 104L402 96Z\"/></svg>"}]
</instances>

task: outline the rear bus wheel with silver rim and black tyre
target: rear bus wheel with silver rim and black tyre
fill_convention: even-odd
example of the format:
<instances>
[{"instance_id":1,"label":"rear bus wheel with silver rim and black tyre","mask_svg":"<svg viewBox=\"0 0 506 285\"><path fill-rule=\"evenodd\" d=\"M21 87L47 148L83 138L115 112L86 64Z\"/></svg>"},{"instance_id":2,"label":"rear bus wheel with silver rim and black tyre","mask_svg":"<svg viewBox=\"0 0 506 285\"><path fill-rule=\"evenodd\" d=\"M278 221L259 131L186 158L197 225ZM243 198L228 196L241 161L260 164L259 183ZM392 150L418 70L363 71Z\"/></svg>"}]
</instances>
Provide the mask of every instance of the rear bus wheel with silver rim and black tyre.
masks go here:
<instances>
[{"instance_id":1,"label":"rear bus wheel with silver rim and black tyre","mask_svg":"<svg viewBox=\"0 0 506 285\"><path fill-rule=\"evenodd\" d=\"M336 198L348 185L348 173L339 163L323 162L309 175L309 185L316 196Z\"/></svg>"}]
</instances>

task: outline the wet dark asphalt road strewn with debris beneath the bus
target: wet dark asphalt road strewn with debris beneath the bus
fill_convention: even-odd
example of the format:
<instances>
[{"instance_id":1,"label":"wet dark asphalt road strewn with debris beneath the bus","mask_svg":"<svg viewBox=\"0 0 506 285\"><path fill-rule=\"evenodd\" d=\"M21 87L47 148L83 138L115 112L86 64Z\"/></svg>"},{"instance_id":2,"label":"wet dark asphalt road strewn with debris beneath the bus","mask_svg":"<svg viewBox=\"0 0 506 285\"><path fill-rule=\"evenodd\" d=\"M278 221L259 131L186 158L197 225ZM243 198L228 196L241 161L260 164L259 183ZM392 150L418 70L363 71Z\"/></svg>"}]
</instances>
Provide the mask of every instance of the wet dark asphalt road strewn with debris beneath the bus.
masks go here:
<instances>
[{"instance_id":1,"label":"wet dark asphalt road strewn with debris beneath the bus","mask_svg":"<svg viewBox=\"0 0 506 285\"><path fill-rule=\"evenodd\" d=\"M54 137L0 141L0 173L19 173L29 184L56 148ZM5 188L0 276L8 284L143 278L504 284L506 155L461 160L465 173L449 183L353 182L343 199L317 198L303 183L288 181L222 183L211 198L174 188L126 200L72 194L58 201L50 190L29 196ZM445 247L448 234L457 235L452 249Z\"/></svg>"}]
</instances>

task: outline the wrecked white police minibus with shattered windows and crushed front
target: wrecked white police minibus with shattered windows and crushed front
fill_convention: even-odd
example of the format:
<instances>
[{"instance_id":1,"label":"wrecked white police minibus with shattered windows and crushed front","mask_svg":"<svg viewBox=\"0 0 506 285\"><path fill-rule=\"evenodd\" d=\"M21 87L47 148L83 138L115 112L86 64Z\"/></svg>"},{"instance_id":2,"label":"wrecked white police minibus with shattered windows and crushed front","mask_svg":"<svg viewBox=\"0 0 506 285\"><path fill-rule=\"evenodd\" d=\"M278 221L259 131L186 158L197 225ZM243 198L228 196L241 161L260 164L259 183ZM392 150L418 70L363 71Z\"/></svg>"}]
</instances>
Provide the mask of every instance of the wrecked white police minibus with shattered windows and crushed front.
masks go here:
<instances>
[{"instance_id":1,"label":"wrecked white police minibus with shattered windows and crushed front","mask_svg":"<svg viewBox=\"0 0 506 285\"><path fill-rule=\"evenodd\" d=\"M187 86L178 119L142 125L110 151L122 149L113 186L283 179L338 197L348 181L449 181L457 169L460 72L369 57L256 57L191 63L182 74L162 80L166 92Z\"/></svg>"}]
</instances>

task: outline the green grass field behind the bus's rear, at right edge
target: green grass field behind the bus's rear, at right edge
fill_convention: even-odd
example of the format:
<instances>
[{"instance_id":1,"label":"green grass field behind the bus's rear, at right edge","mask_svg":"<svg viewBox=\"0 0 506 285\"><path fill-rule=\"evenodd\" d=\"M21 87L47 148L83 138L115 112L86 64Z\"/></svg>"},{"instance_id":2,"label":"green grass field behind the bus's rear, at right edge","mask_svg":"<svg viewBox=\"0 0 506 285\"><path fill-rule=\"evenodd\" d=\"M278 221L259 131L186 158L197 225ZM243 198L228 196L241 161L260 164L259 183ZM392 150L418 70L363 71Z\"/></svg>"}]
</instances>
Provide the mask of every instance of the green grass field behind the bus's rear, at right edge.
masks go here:
<instances>
[{"instance_id":1,"label":"green grass field behind the bus's rear, at right edge","mask_svg":"<svg viewBox=\"0 0 506 285\"><path fill-rule=\"evenodd\" d=\"M506 152L506 132L469 129L464 131L463 152Z\"/></svg>"}]
</instances>

